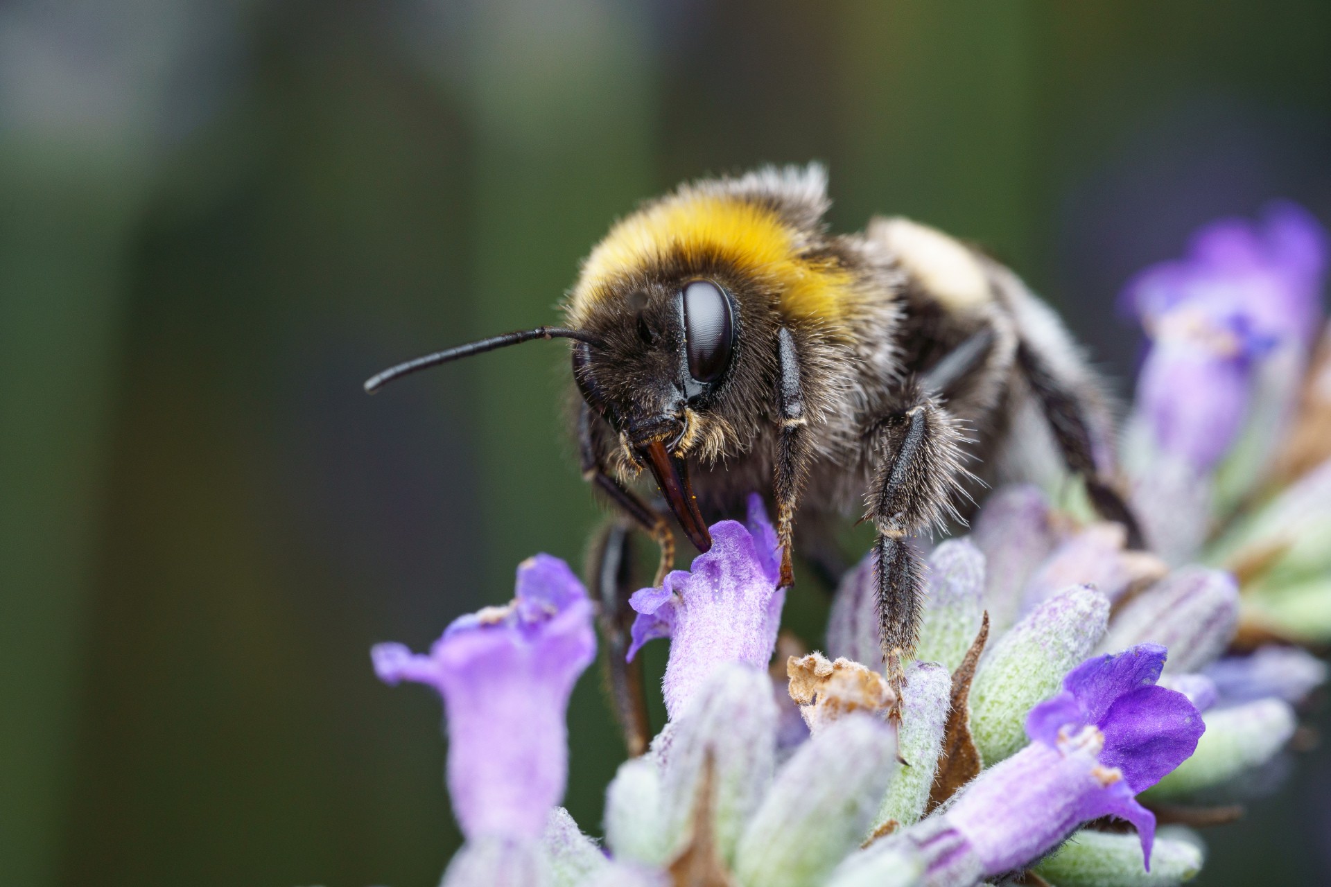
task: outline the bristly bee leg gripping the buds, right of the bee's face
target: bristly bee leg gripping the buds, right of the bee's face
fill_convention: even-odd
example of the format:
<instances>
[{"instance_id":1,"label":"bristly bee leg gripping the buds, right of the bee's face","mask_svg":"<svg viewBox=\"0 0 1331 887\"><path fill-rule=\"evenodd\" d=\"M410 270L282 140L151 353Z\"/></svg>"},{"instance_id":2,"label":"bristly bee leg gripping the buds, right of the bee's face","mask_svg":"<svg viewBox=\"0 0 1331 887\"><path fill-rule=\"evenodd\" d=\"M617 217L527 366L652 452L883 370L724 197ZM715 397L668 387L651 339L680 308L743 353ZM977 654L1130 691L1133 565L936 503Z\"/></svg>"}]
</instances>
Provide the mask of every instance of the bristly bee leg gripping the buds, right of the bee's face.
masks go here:
<instances>
[{"instance_id":1,"label":"bristly bee leg gripping the buds, right of the bee's face","mask_svg":"<svg viewBox=\"0 0 1331 887\"><path fill-rule=\"evenodd\" d=\"M888 682L897 694L892 717L901 715L905 662L920 636L925 567L908 537L944 516L956 516L953 497L965 495L960 480L961 423L917 384L896 395L896 410L876 423L881 452L865 504L865 519L878 529L874 569L878 582L878 637Z\"/></svg>"}]
</instances>

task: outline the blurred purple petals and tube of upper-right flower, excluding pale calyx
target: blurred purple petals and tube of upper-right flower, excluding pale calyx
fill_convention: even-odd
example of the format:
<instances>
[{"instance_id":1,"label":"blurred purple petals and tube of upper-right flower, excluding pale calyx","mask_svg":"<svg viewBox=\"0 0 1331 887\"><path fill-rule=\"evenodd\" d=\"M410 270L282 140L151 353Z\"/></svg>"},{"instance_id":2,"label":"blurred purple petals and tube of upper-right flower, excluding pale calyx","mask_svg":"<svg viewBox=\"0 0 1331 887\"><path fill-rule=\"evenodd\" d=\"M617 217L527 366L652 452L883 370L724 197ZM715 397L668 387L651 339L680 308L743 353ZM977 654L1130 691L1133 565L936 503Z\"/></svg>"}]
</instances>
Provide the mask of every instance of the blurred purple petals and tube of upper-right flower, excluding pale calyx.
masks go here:
<instances>
[{"instance_id":1,"label":"blurred purple petals and tube of upper-right flower, excluding pale calyx","mask_svg":"<svg viewBox=\"0 0 1331 887\"><path fill-rule=\"evenodd\" d=\"M1274 202L1256 223L1203 227L1186 258L1129 283L1123 302L1153 340L1137 408L1163 451L1198 471L1219 461L1247 415L1255 362L1316 332L1326 263L1318 221Z\"/></svg>"}]
</instances>

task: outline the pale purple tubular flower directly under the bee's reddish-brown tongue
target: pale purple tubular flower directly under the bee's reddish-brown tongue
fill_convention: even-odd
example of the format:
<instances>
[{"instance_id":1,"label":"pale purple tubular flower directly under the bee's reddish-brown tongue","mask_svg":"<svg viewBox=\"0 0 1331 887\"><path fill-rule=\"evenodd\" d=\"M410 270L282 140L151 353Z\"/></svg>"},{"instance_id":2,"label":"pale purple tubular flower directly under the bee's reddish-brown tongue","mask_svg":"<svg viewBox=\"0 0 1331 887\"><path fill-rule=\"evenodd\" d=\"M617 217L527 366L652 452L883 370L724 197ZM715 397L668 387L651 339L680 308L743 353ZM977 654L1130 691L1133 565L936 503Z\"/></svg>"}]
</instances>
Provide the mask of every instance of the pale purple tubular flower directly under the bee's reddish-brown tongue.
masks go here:
<instances>
[{"instance_id":1,"label":"pale purple tubular flower directly under the bee's reddish-brown tongue","mask_svg":"<svg viewBox=\"0 0 1331 887\"><path fill-rule=\"evenodd\" d=\"M777 589L780 551L763 499L749 496L748 521L712 525L712 549L691 570L673 570L662 588L644 588L628 604L632 658L652 638L671 638L663 690L673 721L716 666L748 662L765 669L776 646L785 590Z\"/></svg>"}]
</instances>

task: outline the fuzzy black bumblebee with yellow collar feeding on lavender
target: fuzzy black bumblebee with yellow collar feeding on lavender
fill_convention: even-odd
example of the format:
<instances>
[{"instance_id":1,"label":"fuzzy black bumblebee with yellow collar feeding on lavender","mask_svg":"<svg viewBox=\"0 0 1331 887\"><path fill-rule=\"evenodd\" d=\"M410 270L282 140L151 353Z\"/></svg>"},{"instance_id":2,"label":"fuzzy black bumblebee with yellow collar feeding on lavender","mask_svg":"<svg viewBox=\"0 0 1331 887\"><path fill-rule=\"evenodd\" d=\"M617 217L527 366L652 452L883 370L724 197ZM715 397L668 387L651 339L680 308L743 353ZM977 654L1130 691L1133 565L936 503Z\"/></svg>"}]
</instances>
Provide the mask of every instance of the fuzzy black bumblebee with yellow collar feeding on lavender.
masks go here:
<instances>
[{"instance_id":1,"label":"fuzzy black bumblebee with yellow collar feeding on lavender","mask_svg":"<svg viewBox=\"0 0 1331 887\"><path fill-rule=\"evenodd\" d=\"M1053 456L1135 544L1139 532L1111 480L1103 386L1054 313L1006 267L934 229L874 218L862 233L832 234L828 207L819 165L683 185L592 249L564 326L421 358L366 388L507 344L571 339L583 473L659 543L658 581L673 531L635 487L644 469L700 552L709 523L763 491L787 586L797 544L821 563L833 528L870 521L882 654L900 690L924 586L908 537L964 523L982 484L1030 477ZM616 557L594 584L615 584ZM624 680L612 688L632 694Z\"/></svg>"}]
</instances>

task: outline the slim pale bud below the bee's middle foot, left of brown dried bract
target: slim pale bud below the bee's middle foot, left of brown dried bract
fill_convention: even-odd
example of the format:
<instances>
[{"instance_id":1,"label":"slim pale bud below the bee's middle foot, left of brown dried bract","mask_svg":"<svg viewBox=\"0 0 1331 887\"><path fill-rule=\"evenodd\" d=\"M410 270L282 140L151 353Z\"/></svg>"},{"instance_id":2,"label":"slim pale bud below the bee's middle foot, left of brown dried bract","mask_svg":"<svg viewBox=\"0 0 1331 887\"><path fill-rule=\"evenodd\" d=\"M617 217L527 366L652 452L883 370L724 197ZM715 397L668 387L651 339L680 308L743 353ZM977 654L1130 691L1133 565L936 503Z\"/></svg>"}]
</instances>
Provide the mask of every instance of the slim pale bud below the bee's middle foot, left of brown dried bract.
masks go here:
<instances>
[{"instance_id":1,"label":"slim pale bud below the bee's middle foot, left of brown dried bract","mask_svg":"<svg viewBox=\"0 0 1331 887\"><path fill-rule=\"evenodd\" d=\"M909 826L924 815L929 789L942 750L942 730L952 701L952 674L941 665L914 662L906 672L901 697L897 750L909 767L901 767L882 798L874 830L888 821Z\"/></svg>"}]
</instances>

